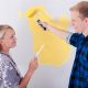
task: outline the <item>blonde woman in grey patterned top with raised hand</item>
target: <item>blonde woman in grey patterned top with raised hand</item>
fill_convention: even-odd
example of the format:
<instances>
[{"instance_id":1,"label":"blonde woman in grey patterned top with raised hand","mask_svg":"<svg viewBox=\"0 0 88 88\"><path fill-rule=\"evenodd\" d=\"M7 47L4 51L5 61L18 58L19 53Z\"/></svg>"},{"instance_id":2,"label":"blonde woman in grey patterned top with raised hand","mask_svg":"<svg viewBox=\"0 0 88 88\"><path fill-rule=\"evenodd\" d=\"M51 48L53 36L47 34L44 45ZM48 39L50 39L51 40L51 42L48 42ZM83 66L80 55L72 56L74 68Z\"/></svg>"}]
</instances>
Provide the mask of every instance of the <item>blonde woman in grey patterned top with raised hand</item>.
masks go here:
<instances>
[{"instance_id":1,"label":"blonde woman in grey patterned top with raised hand","mask_svg":"<svg viewBox=\"0 0 88 88\"><path fill-rule=\"evenodd\" d=\"M0 88L26 88L34 70L37 68L37 59L34 57L24 77L18 70L9 52L16 44L15 32L9 25L0 25Z\"/></svg>"}]
</instances>

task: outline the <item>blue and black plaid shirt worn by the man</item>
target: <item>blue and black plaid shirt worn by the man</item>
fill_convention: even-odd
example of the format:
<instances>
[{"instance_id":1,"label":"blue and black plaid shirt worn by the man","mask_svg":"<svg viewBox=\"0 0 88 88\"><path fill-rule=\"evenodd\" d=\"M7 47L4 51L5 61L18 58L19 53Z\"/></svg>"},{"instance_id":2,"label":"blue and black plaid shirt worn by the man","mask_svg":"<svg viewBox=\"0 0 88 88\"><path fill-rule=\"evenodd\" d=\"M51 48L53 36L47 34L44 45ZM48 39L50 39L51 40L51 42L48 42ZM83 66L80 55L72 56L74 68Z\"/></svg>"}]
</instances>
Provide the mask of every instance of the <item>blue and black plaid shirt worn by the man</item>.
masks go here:
<instances>
[{"instance_id":1,"label":"blue and black plaid shirt worn by the man","mask_svg":"<svg viewBox=\"0 0 88 88\"><path fill-rule=\"evenodd\" d=\"M74 33L69 43L77 47L68 88L88 88L88 36Z\"/></svg>"}]
</instances>

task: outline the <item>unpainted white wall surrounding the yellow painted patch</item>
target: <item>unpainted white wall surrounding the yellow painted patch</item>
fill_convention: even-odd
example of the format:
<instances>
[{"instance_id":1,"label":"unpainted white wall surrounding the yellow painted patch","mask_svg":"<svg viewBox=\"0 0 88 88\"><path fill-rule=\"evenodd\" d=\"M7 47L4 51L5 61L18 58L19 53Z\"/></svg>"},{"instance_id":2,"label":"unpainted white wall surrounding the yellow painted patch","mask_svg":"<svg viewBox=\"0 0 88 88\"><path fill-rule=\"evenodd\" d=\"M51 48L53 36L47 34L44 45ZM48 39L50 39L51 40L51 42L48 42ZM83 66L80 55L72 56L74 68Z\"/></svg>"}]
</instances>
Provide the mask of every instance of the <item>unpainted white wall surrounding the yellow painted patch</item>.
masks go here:
<instances>
[{"instance_id":1,"label":"unpainted white wall surrounding the yellow painted patch","mask_svg":"<svg viewBox=\"0 0 88 88\"><path fill-rule=\"evenodd\" d=\"M14 28L18 45L11 51L22 75L25 74L33 54L33 36L23 14L29 8L42 4L48 13L57 19L63 13L69 16L69 7L80 0L0 0L0 24ZM72 47L70 59L61 67L38 66L28 88L67 88L70 69L74 62L75 48Z\"/></svg>"}]
</instances>

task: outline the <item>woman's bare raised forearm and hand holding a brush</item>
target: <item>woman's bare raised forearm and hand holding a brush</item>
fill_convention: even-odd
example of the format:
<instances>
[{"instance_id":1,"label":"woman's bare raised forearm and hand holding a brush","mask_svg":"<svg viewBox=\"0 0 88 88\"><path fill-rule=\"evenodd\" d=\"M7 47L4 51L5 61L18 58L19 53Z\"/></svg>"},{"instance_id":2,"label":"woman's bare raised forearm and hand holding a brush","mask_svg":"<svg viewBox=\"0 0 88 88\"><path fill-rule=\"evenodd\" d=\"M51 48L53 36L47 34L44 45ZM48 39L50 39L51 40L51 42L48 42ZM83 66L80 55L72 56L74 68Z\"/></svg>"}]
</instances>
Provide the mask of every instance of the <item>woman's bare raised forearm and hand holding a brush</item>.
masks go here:
<instances>
[{"instance_id":1,"label":"woman's bare raised forearm and hand holding a brush","mask_svg":"<svg viewBox=\"0 0 88 88\"><path fill-rule=\"evenodd\" d=\"M30 66L29 66L29 70L26 72L24 78L22 79L19 88L26 88L34 70L37 68L37 58L34 57L31 63L30 63Z\"/></svg>"}]
</instances>

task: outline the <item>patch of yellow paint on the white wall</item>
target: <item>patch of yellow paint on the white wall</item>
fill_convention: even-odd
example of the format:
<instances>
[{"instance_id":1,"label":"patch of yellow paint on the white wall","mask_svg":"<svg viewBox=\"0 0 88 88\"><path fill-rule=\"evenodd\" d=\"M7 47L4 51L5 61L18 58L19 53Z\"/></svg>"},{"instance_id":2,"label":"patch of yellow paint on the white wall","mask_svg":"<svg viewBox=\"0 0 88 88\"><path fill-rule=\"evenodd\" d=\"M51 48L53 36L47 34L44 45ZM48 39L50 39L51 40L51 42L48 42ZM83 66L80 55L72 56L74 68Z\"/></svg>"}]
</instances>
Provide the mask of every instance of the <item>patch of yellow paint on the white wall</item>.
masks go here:
<instances>
[{"instance_id":1,"label":"patch of yellow paint on the white wall","mask_svg":"<svg viewBox=\"0 0 88 88\"><path fill-rule=\"evenodd\" d=\"M50 31L43 31L37 24L37 20L48 22L61 29L68 29L69 19L62 16L58 21L54 21L48 15L43 7L33 7L26 11L29 26L33 34L33 51L37 53L40 47L44 44L44 48L38 55L40 64L59 66L69 58L70 46L63 40Z\"/></svg>"}]
</instances>

